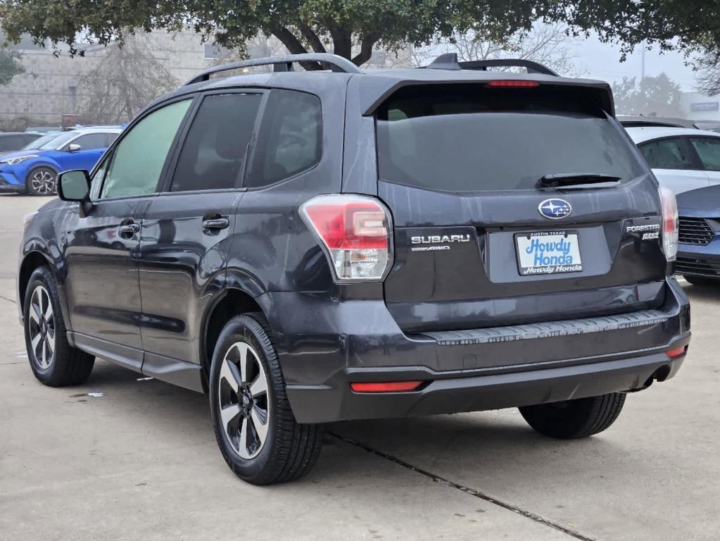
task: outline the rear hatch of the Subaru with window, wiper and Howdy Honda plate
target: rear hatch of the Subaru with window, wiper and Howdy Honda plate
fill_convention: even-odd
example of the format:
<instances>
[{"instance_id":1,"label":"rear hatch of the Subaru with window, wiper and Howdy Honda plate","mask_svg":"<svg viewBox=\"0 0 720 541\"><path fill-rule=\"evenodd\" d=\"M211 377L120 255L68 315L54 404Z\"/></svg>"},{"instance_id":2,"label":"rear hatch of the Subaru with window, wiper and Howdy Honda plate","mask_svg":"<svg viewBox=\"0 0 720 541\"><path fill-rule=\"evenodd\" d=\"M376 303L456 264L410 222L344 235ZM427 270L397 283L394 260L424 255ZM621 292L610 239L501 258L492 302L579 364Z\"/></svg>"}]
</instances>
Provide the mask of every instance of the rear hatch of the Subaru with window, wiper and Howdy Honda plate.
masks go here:
<instances>
[{"instance_id":1,"label":"rear hatch of the Subaru with window, wiper and Howdy Honda plate","mask_svg":"<svg viewBox=\"0 0 720 541\"><path fill-rule=\"evenodd\" d=\"M662 305L657 184L608 100L503 81L406 86L377 108L378 195L395 225L384 293L400 328Z\"/></svg>"}]
</instances>

